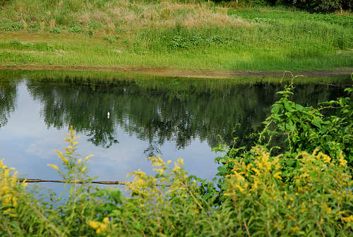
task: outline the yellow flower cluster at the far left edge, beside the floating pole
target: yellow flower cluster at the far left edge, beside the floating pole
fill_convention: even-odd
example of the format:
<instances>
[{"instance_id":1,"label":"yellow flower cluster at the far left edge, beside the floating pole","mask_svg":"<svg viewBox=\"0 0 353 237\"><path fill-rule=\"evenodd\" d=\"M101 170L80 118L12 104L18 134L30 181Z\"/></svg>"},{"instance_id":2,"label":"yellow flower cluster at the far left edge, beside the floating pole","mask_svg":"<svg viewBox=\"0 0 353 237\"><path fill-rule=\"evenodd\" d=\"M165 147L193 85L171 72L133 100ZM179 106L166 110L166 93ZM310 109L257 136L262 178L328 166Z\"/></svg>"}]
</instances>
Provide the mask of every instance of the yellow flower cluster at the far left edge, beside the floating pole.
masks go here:
<instances>
[{"instance_id":1,"label":"yellow flower cluster at the far left edge, beside the floating pole","mask_svg":"<svg viewBox=\"0 0 353 237\"><path fill-rule=\"evenodd\" d=\"M1 206L7 206L6 209L1 209L2 214L8 214L10 216L16 216L14 209L18 206L18 190L15 189L17 184L17 171L11 175L11 171L15 168L8 168L4 165L4 159L0 161L0 202ZM23 182L22 187L27 186L27 183ZM0 212L0 215L1 215Z\"/></svg>"}]
</instances>

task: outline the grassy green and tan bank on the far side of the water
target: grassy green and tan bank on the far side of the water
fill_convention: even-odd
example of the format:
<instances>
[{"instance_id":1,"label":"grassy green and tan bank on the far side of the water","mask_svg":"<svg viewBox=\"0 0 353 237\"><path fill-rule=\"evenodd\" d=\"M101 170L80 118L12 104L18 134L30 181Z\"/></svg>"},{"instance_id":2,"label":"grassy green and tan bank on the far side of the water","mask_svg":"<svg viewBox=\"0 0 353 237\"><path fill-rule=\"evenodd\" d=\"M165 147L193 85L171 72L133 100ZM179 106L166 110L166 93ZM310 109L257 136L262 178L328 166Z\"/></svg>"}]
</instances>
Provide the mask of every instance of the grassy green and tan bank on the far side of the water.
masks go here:
<instances>
[{"instance_id":1,"label":"grassy green and tan bank on the far side of the water","mask_svg":"<svg viewBox=\"0 0 353 237\"><path fill-rule=\"evenodd\" d=\"M177 1L15 0L1 65L301 71L353 65L351 13Z\"/></svg>"}]
</instances>

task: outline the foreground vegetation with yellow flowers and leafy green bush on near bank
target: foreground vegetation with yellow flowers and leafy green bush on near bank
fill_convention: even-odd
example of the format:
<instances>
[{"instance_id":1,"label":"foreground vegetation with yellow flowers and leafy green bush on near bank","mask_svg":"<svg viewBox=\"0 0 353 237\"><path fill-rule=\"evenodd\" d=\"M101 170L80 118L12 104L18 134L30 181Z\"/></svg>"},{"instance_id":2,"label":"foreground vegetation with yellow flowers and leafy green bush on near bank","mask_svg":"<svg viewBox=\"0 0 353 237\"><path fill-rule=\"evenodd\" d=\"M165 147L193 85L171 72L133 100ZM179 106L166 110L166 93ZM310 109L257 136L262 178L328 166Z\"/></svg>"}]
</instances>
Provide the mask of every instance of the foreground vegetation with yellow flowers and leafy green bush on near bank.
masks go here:
<instances>
[{"instance_id":1,"label":"foreground vegetation with yellow flowers and leafy green bush on near bank","mask_svg":"<svg viewBox=\"0 0 353 237\"><path fill-rule=\"evenodd\" d=\"M352 93L352 88L345 90ZM150 157L156 175L131 173L128 192L68 185L68 198L37 200L1 161L0 231L8 236L351 236L353 232L353 103L337 98L318 108L278 92L252 148L220 145L219 173L208 183ZM329 111L328 111L329 110ZM69 181L92 180L90 156L56 151ZM277 141L284 141L278 147Z\"/></svg>"}]
</instances>

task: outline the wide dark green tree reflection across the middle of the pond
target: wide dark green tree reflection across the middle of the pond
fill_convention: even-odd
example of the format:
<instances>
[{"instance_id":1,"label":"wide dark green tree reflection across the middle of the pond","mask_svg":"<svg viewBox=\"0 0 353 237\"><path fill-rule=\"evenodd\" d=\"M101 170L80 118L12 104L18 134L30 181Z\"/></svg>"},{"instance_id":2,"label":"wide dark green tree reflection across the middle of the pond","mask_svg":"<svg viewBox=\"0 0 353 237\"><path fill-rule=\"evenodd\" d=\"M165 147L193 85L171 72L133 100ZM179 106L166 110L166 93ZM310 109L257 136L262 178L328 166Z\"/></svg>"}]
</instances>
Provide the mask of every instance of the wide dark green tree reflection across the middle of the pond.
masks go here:
<instances>
[{"instance_id":1,"label":"wide dark green tree reflection across the middle of the pond","mask_svg":"<svg viewBox=\"0 0 353 237\"><path fill-rule=\"evenodd\" d=\"M261 129L278 98L276 91L282 89L279 84L205 86L205 81L195 81L30 80L28 90L44 104L48 127L73 125L96 146L111 146L118 142L115 126L119 126L148 141L145 154L152 155L160 153L165 141L175 141L181 149L196 137L217 146L219 137L230 144L235 135L237 146L251 146L251 133ZM323 86L306 85L297 93L299 100L311 100L313 91L317 100L330 95Z\"/></svg>"}]
</instances>

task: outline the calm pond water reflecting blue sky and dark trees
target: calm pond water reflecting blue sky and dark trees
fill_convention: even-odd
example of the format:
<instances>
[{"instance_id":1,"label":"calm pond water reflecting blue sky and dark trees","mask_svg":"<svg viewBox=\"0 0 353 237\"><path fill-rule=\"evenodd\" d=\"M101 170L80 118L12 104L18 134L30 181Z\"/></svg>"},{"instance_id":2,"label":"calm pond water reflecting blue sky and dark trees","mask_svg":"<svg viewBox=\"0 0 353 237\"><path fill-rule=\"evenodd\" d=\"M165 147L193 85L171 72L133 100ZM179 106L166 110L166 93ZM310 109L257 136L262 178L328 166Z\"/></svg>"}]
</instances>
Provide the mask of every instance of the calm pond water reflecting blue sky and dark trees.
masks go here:
<instances>
[{"instance_id":1,"label":"calm pond water reflecting blue sky and dark trees","mask_svg":"<svg viewBox=\"0 0 353 237\"><path fill-rule=\"evenodd\" d=\"M294 100L316 105L343 95L342 86L320 81L297 85ZM261 129L282 88L264 81L2 71L0 158L23 177L59 178L47 163L60 166L53 150L66 146L73 125L79 153L94 154L90 175L98 180L124 181L138 168L151 174L145 161L151 155L180 156L189 173L211 179L217 170L211 148L234 135L237 145L251 146L249 134Z\"/></svg>"}]
</instances>

